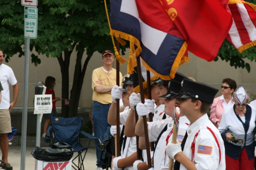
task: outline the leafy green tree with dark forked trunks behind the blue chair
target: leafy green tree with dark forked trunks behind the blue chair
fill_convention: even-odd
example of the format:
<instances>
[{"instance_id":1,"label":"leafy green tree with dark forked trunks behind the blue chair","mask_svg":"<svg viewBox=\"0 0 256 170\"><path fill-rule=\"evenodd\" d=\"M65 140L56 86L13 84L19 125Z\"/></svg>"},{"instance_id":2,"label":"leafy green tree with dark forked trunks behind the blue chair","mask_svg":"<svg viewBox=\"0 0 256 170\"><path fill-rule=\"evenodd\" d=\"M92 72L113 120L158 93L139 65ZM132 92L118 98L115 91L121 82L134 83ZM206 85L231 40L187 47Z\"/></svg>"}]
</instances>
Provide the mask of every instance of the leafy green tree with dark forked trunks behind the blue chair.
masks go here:
<instances>
[{"instance_id":1,"label":"leafy green tree with dark forked trunks behind the blue chair","mask_svg":"<svg viewBox=\"0 0 256 170\"><path fill-rule=\"evenodd\" d=\"M0 47L7 55L24 55L24 7L20 1L1 1ZM76 116L80 92L87 64L93 53L113 49L103 1L98 0L42 0L38 2L38 37L30 39L30 51L56 57L62 73L62 98L69 98L70 55L76 54L76 65L70 105L62 101L62 116ZM126 47L121 47L124 53ZM86 51L85 51L86 50ZM86 52L86 59L82 57ZM32 54L32 63L40 64L37 54Z\"/></svg>"}]
</instances>

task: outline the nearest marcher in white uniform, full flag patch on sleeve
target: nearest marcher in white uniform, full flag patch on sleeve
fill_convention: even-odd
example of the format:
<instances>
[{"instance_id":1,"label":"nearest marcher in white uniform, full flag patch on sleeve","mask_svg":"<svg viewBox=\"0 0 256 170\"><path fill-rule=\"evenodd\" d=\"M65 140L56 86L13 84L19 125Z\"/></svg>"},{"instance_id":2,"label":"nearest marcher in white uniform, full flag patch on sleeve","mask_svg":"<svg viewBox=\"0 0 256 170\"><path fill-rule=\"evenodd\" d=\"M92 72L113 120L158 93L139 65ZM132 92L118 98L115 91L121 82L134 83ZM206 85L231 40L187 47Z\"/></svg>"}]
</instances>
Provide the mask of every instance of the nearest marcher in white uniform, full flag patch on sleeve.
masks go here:
<instances>
[{"instance_id":1,"label":"nearest marcher in white uniform, full flag patch on sleeve","mask_svg":"<svg viewBox=\"0 0 256 170\"><path fill-rule=\"evenodd\" d=\"M218 89L184 79L180 94L174 96L180 113L190 121L180 144L169 142L168 156L175 159L174 170L225 170L225 148L218 129L209 120L210 108Z\"/></svg>"}]
</instances>

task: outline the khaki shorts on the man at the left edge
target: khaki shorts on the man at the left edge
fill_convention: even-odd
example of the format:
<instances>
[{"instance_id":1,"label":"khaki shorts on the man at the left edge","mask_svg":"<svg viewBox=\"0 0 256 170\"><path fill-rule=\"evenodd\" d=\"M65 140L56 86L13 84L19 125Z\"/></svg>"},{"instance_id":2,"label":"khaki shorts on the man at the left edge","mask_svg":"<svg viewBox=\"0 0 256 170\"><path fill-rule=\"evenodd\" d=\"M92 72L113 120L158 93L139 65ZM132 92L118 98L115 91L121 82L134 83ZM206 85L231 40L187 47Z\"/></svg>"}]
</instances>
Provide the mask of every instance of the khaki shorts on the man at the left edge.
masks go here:
<instances>
[{"instance_id":1,"label":"khaki shorts on the man at the left edge","mask_svg":"<svg viewBox=\"0 0 256 170\"><path fill-rule=\"evenodd\" d=\"M0 109L0 134L12 132L9 109Z\"/></svg>"}]
</instances>

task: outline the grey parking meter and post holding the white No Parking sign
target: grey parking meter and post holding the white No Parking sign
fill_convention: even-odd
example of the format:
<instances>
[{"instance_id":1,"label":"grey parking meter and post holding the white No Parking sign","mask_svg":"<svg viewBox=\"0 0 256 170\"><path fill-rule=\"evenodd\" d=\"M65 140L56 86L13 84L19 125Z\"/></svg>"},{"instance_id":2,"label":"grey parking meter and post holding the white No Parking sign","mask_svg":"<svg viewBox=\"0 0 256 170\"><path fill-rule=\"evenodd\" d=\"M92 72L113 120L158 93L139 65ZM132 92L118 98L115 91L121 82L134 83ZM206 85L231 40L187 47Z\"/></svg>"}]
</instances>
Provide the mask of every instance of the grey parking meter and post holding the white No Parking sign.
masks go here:
<instances>
[{"instance_id":1,"label":"grey parking meter and post holding the white No Parking sign","mask_svg":"<svg viewBox=\"0 0 256 170\"><path fill-rule=\"evenodd\" d=\"M43 82L38 82L35 87L35 95L45 94ZM41 137L41 120L43 114L37 114L36 121L36 147L40 147L40 137Z\"/></svg>"}]
</instances>

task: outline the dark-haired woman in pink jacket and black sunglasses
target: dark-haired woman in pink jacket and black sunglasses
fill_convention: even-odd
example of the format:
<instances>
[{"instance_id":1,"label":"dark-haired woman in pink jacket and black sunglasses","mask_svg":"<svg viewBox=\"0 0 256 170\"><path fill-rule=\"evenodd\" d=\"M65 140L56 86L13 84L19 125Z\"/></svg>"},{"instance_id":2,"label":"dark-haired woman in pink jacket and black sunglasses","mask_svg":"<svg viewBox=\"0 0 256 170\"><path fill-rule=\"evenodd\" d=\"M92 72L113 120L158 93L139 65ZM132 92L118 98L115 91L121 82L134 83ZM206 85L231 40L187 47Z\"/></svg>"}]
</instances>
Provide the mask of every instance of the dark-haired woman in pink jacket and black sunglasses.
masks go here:
<instances>
[{"instance_id":1,"label":"dark-haired woman in pink jacket and black sunglasses","mask_svg":"<svg viewBox=\"0 0 256 170\"><path fill-rule=\"evenodd\" d=\"M234 104L232 101L234 91L236 91L235 80L232 80L231 78L224 78L221 86L222 95L214 99L210 111L210 120L217 128L220 124L224 111Z\"/></svg>"}]
</instances>

